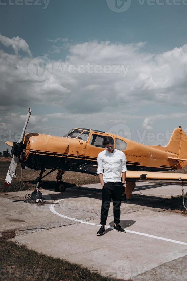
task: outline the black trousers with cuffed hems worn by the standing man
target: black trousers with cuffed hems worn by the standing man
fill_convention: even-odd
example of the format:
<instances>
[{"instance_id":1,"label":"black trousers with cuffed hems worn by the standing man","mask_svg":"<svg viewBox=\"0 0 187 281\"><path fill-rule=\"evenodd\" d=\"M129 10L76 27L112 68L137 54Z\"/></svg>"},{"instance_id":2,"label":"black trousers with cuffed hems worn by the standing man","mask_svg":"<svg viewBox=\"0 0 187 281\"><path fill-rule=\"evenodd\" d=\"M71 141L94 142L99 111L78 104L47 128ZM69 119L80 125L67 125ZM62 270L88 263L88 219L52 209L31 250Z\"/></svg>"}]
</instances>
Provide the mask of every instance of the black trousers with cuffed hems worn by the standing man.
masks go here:
<instances>
[{"instance_id":1,"label":"black trousers with cuffed hems worn by the standing man","mask_svg":"<svg viewBox=\"0 0 187 281\"><path fill-rule=\"evenodd\" d=\"M114 223L120 222L120 206L124 187L122 182L107 182L102 189L101 225L106 225L111 199L113 200Z\"/></svg>"}]
</instances>

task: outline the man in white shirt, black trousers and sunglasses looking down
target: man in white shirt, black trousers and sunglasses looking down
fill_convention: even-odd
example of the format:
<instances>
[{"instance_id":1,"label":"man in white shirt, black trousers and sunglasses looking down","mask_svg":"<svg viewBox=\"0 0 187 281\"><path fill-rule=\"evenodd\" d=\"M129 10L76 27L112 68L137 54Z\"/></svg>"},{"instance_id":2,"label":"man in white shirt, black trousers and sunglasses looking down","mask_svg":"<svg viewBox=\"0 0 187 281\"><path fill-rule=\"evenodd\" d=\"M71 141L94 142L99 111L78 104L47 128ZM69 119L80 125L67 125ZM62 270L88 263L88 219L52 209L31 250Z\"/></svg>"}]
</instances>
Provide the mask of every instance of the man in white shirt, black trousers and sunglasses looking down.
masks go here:
<instances>
[{"instance_id":1,"label":"man in white shirt, black trousers and sunglasses looking down","mask_svg":"<svg viewBox=\"0 0 187 281\"><path fill-rule=\"evenodd\" d=\"M102 207L101 207L101 228L97 232L98 236L105 233L105 225L110 207L110 201L113 200L114 212L114 230L125 233L125 230L119 225L120 223L120 205L124 191L126 177L126 157L125 154L114 148L112 137L104 138L103 145L106 150L98 154L98 169L102 185ZM122 173L122 182L121 182Z\"/></svg>"}]
</instances>

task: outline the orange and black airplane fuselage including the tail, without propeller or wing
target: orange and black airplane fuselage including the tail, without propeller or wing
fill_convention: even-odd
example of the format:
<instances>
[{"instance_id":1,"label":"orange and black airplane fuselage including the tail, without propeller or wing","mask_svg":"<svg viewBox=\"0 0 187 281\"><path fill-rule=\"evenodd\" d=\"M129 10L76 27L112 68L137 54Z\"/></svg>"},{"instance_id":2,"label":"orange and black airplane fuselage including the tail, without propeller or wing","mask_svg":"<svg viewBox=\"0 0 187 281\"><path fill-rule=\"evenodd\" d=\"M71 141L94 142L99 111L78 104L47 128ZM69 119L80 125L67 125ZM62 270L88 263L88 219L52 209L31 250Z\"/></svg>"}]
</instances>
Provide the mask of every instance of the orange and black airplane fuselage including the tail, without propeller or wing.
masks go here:
<instances>
[{"instance_id":1,"label":"orange and black airplane fuselage including the tail, without propeller or wing","mask_svg":"<svg viewBox=\"0 0 187 281\"><path fill-rule=\"evenodd\" d=\"M167 146L149 146L111 133L91 129L73 129L81 133L72 138L29 133L25 136L25 155L21 165L32 169L61 169L96 174L98 153L104 150L102 141L112 136L116 149L127 158L127 169L134 171L166 171L181 169L187 162L186 134L180 128L174 130ZM84 140L87 134L87 139ZM84 138L83 138L84 135ZM82 137L81 137L82 136ZM175 136L175 140L174 140ZM176 136L178 136L176 138ZM185 138L182 140L182 138ZM173 157L176 159L169 159Z\"/></svg>"}]
</instances>

